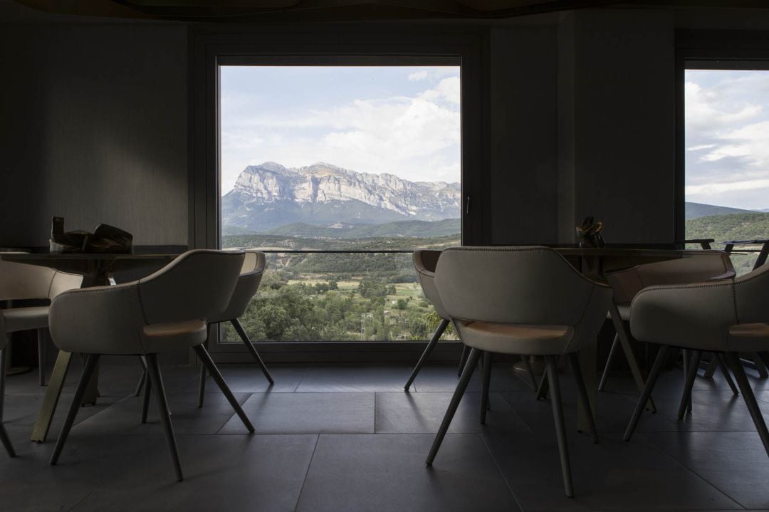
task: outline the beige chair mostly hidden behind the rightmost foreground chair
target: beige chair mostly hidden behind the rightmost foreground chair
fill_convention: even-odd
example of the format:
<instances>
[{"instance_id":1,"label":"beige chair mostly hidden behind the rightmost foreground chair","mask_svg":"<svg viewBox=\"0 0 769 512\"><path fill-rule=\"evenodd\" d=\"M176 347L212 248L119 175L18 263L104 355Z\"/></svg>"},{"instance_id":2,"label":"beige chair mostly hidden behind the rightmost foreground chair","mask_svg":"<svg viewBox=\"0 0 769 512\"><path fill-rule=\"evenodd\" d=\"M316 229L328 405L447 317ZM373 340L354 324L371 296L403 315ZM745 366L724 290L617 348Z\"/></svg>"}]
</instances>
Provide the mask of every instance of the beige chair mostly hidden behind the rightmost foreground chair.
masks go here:
<instances>
[{"instance_id":1,"label":"beige chair mostly hidden behind the rightmost foreground chair","mask_svg":"<svg viewBox=\"0 0 769 512\"><path fill-rule=\"evenodd\" d=\"M641 376L641 370L631 348L631 335L628 331L630 304L639 291L656 284L718 281L734 278L735 275L731 260L724 251L697 251L687 258L641 264L633 268L607 274L608 284L614 290L614 301L610 304L609 316L614 323L616 334L614 334L614 343L611 344L611 351L609 351L609 357L601 376L601 383L598 384L598 390L603 391L606 385L611 362L614 360L618 347L621 347L624 352L634 381L638 386L638 391L644 389L644 377ZM731 376L724 361L722 361L718 354L715 354L714 357L716 357L720 364L721 371L723 371L727 382L734 389L734 382L731 381ZM687 361L688 357L684 354L684 367L687 365ZM651 401L651 398L648 405L651 411L654 411L654 403Z\"/></svg>"}]
</instances>

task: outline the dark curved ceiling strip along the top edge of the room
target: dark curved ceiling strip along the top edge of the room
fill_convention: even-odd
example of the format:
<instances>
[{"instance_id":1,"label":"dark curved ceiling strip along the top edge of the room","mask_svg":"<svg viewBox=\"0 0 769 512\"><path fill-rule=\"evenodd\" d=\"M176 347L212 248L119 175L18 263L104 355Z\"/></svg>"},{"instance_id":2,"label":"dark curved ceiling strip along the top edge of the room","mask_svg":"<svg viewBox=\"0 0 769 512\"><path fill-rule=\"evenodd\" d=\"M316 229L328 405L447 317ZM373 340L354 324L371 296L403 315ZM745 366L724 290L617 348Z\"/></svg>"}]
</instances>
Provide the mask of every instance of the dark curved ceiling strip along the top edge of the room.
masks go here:
<instances>
[{"instance_id":1,"label":"dark curved ceiling strip along the top edge of the room","mask_svg":"<svg viewBox=\"0 0 769 512\"><path fill-rule=\"evenodd\" d=\"M39 11L188 22L493 19L611 5L769 8L767 0L15 0Z\"/></svg>"}]
</instances>

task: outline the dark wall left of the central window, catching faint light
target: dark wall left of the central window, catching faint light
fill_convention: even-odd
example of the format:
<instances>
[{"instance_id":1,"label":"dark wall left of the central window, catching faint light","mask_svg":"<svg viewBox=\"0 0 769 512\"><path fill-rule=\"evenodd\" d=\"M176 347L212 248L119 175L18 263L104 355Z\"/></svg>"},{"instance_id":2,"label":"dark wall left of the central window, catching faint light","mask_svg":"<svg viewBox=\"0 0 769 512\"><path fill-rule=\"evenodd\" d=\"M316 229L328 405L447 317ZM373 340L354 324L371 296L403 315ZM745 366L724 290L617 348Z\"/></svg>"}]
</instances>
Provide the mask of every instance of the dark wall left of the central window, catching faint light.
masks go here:
<instances>
[{"instance_id":1,"label":"dark wall left of the central window, catching faint light","mask_svg":"<svg viewBox=\"0 0 769 512\"><path fill-rule=\"evenodd\" d=\"M187 29L0 25L0 246L103 222L187 244Z\"/></svg>"}]
</instances>

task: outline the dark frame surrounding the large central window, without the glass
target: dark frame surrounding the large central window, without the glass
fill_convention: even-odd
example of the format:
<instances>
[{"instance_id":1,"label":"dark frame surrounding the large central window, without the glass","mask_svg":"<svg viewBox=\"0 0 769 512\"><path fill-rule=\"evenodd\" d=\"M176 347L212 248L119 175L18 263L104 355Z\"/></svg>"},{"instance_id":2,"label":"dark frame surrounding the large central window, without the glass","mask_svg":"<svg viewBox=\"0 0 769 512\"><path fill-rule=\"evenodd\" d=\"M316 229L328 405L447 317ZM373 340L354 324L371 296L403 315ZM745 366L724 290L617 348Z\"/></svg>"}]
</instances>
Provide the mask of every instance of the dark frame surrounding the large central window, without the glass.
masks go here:
<instances>
[{"instance_id":1,"label":"dark frame surrounding the large central window, without the glass","mask_svg":"<svg viewBox=\"0 0 769 512\"><path fill-rule=\"evenodd\" d=\"M273 29L275 30L275 29ZM312 65L315 62L360 62L404 65L405 62L456 62L461 66L461 243L481 245L484 241L484 208L481 192L484 169L488 168L487 142L483 134L488 119L488 95L481 88L488 83L483 74L486 36L478 31L458 30L431 33L411 29L405 32L337 32L328 28L301 34L271 32L260 34L194 32L191 55L191 150L189 179L189 247L218 248L220 229L219 184L219 87L220 65L259 63L270 65ZM468 211L468 198L471 198ZM218 329L211 329L209 342L215 361L246 362L251 357L239 343L219 343ZM412 361L427 341L313 341L259 342L267 361ZM442 345L442 347L441 347ZM441 343L434 358L454 359L460 342Z\"/></svg>"}]
</instances>

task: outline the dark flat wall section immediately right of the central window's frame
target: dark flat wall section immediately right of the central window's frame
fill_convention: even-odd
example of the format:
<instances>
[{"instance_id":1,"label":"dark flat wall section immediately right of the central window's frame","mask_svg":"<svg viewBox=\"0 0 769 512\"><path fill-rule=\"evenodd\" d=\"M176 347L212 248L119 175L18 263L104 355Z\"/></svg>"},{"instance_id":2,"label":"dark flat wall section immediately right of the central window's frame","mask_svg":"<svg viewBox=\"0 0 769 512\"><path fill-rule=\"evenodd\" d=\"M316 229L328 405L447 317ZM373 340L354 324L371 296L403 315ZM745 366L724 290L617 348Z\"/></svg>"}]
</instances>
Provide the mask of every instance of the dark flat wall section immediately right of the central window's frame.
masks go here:
<instances>
[{"instance_id":1,"label":"dark flat wall section immediately right of the central window's frame","mask_svg":"<svg viewBox=\"0 0 769 512\"><path fill-rule=\"evenodd\" d=\"M556 28L494 28L491 243L558 241Z\"/></svg>"}]
</instances>

